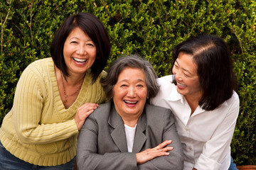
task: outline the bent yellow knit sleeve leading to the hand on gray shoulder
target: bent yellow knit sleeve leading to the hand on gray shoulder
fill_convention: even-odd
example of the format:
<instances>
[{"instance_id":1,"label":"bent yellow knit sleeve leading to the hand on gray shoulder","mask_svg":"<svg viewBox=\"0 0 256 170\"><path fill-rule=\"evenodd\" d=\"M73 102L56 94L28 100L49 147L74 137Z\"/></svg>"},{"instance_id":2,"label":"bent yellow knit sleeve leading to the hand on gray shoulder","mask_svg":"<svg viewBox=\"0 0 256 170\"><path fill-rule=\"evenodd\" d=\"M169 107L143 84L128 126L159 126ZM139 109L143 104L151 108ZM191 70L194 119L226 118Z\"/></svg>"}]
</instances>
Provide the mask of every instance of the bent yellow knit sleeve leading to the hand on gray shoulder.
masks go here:
<instances>
[{"instance_id":1,"label":"bent yellow knit sleeve leading to the hand on gray shoulder","mask_svg":"<svg viewBox=\"0 0 256 170\"><path fill-rule=\"evenodd\" d=\"M14 96L14 126L19 140L26 144L43 144L67 139L78 133L75 120L41 124L43 92L41 75L26 68L16 86ZM41 77L41 78L39 78Z\"/></svg>"}]
</instances>

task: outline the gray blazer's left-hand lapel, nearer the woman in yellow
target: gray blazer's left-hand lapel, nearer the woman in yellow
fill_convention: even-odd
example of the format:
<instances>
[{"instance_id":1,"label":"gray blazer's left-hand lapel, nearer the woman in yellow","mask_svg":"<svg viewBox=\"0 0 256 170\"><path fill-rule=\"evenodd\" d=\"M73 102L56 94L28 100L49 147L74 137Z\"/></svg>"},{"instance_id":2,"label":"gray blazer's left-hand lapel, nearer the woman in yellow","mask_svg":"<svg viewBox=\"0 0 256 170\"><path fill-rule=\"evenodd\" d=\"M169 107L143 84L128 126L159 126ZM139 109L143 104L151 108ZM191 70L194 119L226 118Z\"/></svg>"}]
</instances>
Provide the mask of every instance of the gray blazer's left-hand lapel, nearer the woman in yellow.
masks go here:
<instances>
[{"instance_id":1,"label":"gray blazer's left-hand lapel, nearer the woman in yellow","mask_svg":"<svg viewBox=\"0 0 256 170\"><path fill-rule=\"evenodd\" d=\"M114 128L114 130L111 132L111 137L114 140L114 143L117 145L121 152L128 152L127 140L124 130L124 122L121 116L115 110L113 103L108 123L110 126L112 126L112 128Z\"/></svg>"}]
</instances>

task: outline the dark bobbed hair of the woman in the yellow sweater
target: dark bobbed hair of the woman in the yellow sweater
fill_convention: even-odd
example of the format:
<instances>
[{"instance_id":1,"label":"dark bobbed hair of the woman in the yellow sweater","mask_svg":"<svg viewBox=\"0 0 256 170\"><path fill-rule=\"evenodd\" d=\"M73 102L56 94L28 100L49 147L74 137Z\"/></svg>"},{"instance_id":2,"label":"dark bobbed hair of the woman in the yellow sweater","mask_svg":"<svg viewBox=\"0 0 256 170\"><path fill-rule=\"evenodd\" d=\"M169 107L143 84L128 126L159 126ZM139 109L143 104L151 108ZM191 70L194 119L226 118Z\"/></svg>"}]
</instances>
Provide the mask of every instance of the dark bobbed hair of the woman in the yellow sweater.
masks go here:
<instances>
[{"instance_id":1,"label":"dark bobbed hair of the woman in the yellow sweater","mask_svg":"<svg viewBox=\"0 0 256 170\"><path fill-rule=\"evenodd\" d=\"M53 42L50 45L50 55L56 67L63 72L63 76L68 77L67 66L63 57L63 47L68 35L75 28L83 30L96 45L97 56L90 68L92 83L94 83L107 64L111 45L107 30L100 20L91 13L78 13L68 17L63 22L55 33Z\"/></svg>"}]
</instances>

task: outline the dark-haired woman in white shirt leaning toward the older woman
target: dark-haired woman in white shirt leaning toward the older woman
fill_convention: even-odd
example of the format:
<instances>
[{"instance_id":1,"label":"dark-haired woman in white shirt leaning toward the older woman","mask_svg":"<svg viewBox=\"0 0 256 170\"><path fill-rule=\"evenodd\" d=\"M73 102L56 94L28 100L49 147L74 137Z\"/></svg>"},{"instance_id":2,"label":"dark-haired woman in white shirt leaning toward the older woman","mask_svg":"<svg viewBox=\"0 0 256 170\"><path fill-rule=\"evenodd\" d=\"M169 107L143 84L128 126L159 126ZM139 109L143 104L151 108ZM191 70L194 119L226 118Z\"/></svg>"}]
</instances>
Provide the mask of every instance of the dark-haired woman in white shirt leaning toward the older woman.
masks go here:
<instances>
[{"instance_id":1,"label":"dark-haired woman in white shirt leaning toward the older woman","mask_svg":"<svg viewBox=\"0 0 256 170\"><path fill-rule=\"evenodd\" d=\"M178 44L173 56L173 75L157 80L151 103L174 113L184 169L228 169L239 113L228 46L215 35L199 35Z\"/></svg>"}]
</instances>

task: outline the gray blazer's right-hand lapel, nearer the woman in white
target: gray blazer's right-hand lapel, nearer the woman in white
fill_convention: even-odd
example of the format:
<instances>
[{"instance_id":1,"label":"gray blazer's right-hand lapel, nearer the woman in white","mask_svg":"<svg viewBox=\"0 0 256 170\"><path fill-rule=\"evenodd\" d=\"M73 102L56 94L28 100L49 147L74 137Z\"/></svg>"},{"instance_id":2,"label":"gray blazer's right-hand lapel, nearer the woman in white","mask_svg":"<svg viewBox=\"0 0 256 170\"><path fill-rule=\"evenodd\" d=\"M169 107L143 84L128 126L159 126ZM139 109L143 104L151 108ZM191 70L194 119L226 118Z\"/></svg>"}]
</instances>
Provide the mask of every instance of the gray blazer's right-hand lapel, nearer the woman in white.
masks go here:
<instances>
[{"instance_id":1,"label":"gray blazer's right-hand lapel, nearer the woman in white","mask_svg":"<svg viewBox=\"0 0 256 170\"><path fill-rule=\"evenodd\" d=\"M146 142L146 135L144 134L145 130L146 130L146 113L143 112L142 115L139 117L139 120L137 123L132 152L138 153L142 150L142 147Z\"/></svg>"}]
</instances>

